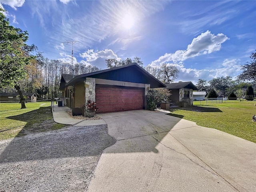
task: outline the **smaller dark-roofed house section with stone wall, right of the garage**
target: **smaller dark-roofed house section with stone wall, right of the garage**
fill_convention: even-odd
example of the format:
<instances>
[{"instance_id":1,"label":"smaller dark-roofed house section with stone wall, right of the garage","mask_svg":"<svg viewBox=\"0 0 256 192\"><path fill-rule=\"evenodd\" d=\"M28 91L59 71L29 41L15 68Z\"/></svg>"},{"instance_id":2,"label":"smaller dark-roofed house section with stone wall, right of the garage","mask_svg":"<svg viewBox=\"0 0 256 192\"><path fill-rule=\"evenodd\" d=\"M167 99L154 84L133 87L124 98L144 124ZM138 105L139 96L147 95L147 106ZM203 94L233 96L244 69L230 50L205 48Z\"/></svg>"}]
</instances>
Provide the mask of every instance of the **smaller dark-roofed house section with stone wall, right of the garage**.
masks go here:
<instances>
[{"instance_id":1,"label":"smaller dark-roofed house section with stone wall, right of the garage","mask_svg":"<svg viewBox=\"0 0 256 192\"><path fill-rule=\"evenodd\" d=\"M193 105L193 90L198 90L192 82L180 82L166 84L166 88L171 91L169 100L179 106L186 107Z\"/></svg>"}]
</instances>

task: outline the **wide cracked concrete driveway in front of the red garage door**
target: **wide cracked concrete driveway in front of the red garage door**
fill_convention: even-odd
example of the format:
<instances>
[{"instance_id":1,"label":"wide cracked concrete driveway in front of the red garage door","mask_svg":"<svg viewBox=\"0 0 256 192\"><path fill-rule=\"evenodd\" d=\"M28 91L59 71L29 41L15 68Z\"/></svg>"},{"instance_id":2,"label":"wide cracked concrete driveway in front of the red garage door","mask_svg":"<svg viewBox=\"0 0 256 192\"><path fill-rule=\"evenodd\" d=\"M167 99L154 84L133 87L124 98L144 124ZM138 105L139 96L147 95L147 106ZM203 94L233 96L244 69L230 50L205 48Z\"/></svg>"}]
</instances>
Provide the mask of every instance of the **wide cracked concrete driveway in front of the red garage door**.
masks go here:
<instances>
[{"instance_id":1,"label":"wide cracked concrete driveway in front of the red garage door","mask_svg":"<svg viewBox=\"0 0 256 192\"><path fill-rule=\"evenodd\" d=\"M256 144L163 112L99 114L117 142L102 153L89 192L256 189Z\"/></svg>"}]
</instances>

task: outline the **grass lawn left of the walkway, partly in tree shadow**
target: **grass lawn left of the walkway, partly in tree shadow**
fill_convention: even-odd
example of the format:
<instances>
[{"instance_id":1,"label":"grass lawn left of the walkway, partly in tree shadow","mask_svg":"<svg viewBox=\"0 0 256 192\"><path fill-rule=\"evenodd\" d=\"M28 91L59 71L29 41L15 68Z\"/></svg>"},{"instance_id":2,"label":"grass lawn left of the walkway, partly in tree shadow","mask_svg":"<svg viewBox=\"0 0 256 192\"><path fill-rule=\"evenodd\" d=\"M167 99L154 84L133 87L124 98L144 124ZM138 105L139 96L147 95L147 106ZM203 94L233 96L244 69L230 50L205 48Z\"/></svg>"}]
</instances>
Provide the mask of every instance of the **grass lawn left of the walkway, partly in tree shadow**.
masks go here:
<instances>
[{"instance_id":1,"label":"grass lawn left of the walkway, partly in tree shadow","mask_svg":"<svg viewBox=\"0 0 256 192\"><path fill-rule=\"evenodd\" d=\"M19 103L0 103L0 140L64 127L53 121L50 105L48 101L31 102L20 109Z\"/></svg>"}]
</instances>

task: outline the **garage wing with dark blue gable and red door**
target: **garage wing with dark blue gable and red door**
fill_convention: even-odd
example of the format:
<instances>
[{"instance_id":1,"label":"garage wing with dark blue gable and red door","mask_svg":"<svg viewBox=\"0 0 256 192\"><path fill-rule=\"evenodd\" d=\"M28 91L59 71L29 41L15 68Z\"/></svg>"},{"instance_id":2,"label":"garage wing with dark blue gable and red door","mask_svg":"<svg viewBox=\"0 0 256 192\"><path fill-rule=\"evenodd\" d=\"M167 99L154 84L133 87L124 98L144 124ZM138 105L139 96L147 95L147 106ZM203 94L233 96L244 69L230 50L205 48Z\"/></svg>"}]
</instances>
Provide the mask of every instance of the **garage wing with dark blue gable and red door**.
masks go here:
<instances>
[{"instance_id":1,"label":"garage wing with dark blue gable and red door","mask_svg":"<svg viewBox=\"0 0 256 192\"><path fill-rule=\"evenodd\" d=\"M96 101L97 113L146 109L148 90L164 87L136 63L78 75L67 83L62 75L60 82L64 97L72 91L73 108L82 108L92 100Z\"/></svg>"}]
</instances>

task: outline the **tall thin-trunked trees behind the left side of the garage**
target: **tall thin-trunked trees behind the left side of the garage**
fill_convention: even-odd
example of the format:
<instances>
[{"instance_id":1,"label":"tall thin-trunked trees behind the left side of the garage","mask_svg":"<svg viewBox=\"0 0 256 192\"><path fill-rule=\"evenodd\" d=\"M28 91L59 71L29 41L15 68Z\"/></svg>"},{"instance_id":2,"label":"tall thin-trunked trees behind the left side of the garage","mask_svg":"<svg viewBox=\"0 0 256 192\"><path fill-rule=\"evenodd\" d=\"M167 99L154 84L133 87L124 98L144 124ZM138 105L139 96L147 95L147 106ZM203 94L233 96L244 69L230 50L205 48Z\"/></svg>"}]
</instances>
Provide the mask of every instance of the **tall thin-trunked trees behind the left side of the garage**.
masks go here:
<instances>
[{"instance_id":1,"label":"tall thin-trunked trees behind the left side of the garage","mask_svg":"<svg viewBox=\"0 0 256 192\"><path fill-rule=\"evenodd\" d=\"M83 63L72 64L62 60L50 60L37 52L33 59L24 66L26 75L18 84L23 93L36 93L38 100L50 99L60 96L59 86L62 74L74 76L100 70L96 66ZM0 92L16 92L12 86L1 86Z\"/></svg>"}]
</instances>

